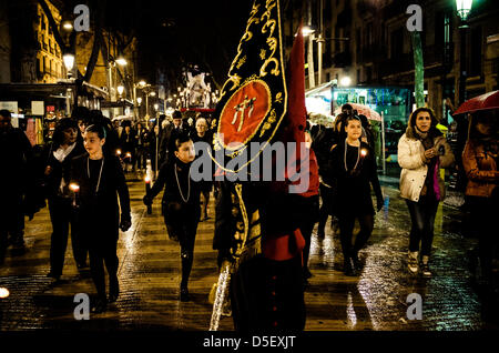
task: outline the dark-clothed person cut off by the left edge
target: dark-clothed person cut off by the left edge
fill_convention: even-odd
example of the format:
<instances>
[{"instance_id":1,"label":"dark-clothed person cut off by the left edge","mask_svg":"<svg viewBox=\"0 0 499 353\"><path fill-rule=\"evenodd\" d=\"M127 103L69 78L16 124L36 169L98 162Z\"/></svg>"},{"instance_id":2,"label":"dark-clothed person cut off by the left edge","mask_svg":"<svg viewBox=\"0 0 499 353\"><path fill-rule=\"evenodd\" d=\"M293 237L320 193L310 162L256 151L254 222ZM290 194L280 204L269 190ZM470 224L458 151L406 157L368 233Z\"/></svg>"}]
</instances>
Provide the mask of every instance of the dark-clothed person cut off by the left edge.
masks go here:
<instances>
[{"instance_id":1,"label":"dark-clothed person cut off by the left edge","mask_svg":"<svg viewBox=\"0 0 499 353\"><path fill-rule=\"evenodd\" d=\"M12 127L10 111L0 110L0 264L9 242L16 255L26 251L23 195L30 182L31 158L32 147L27 135Z\"/></svg>"}]
</instances>

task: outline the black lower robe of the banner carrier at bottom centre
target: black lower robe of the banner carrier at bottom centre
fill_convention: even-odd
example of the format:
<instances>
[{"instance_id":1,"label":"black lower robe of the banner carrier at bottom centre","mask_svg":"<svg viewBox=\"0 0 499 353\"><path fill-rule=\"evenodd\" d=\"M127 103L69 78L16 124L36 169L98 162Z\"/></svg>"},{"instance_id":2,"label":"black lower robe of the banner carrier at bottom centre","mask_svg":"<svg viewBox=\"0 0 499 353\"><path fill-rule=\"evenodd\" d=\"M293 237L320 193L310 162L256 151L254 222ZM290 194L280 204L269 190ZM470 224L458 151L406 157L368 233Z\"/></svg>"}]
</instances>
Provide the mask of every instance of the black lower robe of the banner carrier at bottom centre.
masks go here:
<instances>
[{"instance_id":1,"label":"black lower robe of the banner carrier at bottom centre","mask_svg":"<svg viewBox=\"0 0 499 353\"><path fill-rule=\"evenodd\" d=\"M231 279L231 304L238 332L303 331L301 254L287 261L257 255L242 263Z\"/></svg>"}]
</instances>

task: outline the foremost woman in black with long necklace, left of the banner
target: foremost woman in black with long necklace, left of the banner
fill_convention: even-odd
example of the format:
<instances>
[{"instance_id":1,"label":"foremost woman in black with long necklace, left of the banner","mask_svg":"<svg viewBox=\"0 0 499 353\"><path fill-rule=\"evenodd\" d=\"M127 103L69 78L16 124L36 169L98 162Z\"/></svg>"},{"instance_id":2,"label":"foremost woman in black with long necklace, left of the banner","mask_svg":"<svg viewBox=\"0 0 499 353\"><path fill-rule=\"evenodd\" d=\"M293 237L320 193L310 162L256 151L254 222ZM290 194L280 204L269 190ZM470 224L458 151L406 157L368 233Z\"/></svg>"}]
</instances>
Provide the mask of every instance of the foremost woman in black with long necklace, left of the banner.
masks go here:
<instances>
[{"instance_id":1,"label":"foremost woman in black with long necklace, left of the banner","mask_svg":"<svg viewBox=\"0 0 499 353\"><path fill-rule=\"evenodd\" d=\"M95 313L105 311L108 305L104 263L109 275L109 301L118 300L119 229L125 232L131 226L129 189L119 159L103 152L105 138L103 125L89 125L83 137L88 154L73 159L71 168L71 182L79 186L79 224L89 245L90 272L98 293L92 305Z\"/></svg>"}]
</instances>

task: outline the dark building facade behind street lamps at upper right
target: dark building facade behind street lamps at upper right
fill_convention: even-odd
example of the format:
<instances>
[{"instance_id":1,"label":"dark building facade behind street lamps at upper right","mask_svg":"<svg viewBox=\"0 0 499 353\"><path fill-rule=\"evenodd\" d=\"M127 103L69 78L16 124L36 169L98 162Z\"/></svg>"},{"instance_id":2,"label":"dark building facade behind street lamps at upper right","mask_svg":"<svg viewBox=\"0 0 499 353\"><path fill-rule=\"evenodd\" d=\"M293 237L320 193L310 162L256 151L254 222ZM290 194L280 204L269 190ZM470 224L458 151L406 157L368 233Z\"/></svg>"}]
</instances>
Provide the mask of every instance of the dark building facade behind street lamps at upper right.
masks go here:
<instances>
[{"instance_id":1,"label":"dark building facade behind street lamps at upper right","mask_svg":"<svg viewBox=\"0 0 499 353\"><path fill-rule=\"evenodd\" d=\"M349 78L355 87L403 87L414 90L414 51L406 22L407 8L422 9L425 91L427 105L447 122L459 104L460 43L466 36L466 98L498 89L499 8L493 0L475 1L466 30L450 0L308 0L286 2L284 36L292 42L301 20L316 30L305 49L313 47L315 85ZM293 29L293 30L292 30ZM318 68L318 34L324 38ZM312 40L313 46L307 42ZM308 60L307 60L308 59ZM322 82L317 71L322 69ZM306 70L307 89L312 89ZM447 102L447 103L446 103Z\"/></svg>"}]
</instances>

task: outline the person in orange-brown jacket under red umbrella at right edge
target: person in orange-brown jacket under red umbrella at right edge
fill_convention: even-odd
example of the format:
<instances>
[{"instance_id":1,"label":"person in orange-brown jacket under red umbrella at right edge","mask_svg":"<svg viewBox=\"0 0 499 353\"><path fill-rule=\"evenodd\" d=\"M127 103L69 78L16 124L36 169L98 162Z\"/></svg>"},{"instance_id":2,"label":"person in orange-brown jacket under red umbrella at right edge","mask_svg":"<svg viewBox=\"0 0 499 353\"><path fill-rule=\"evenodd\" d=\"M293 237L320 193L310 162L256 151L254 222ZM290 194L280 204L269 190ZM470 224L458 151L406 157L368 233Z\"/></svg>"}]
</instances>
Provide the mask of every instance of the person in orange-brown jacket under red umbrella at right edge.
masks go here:
<instances>
[{"instance_id":1,"label":"person in orange-brown jacket under red umbrella at right edge","mask_svg":"<svg viewBox=\"0 0 499 353\"><path fill-rule=\"evenodd\" d=\"M470 121L462 165L468 178L467 203L478 231L481 280L492 284L492 260L498 251L497 210L499 209L498 113L477 112Z\"/></svg>"}]
</instances>

